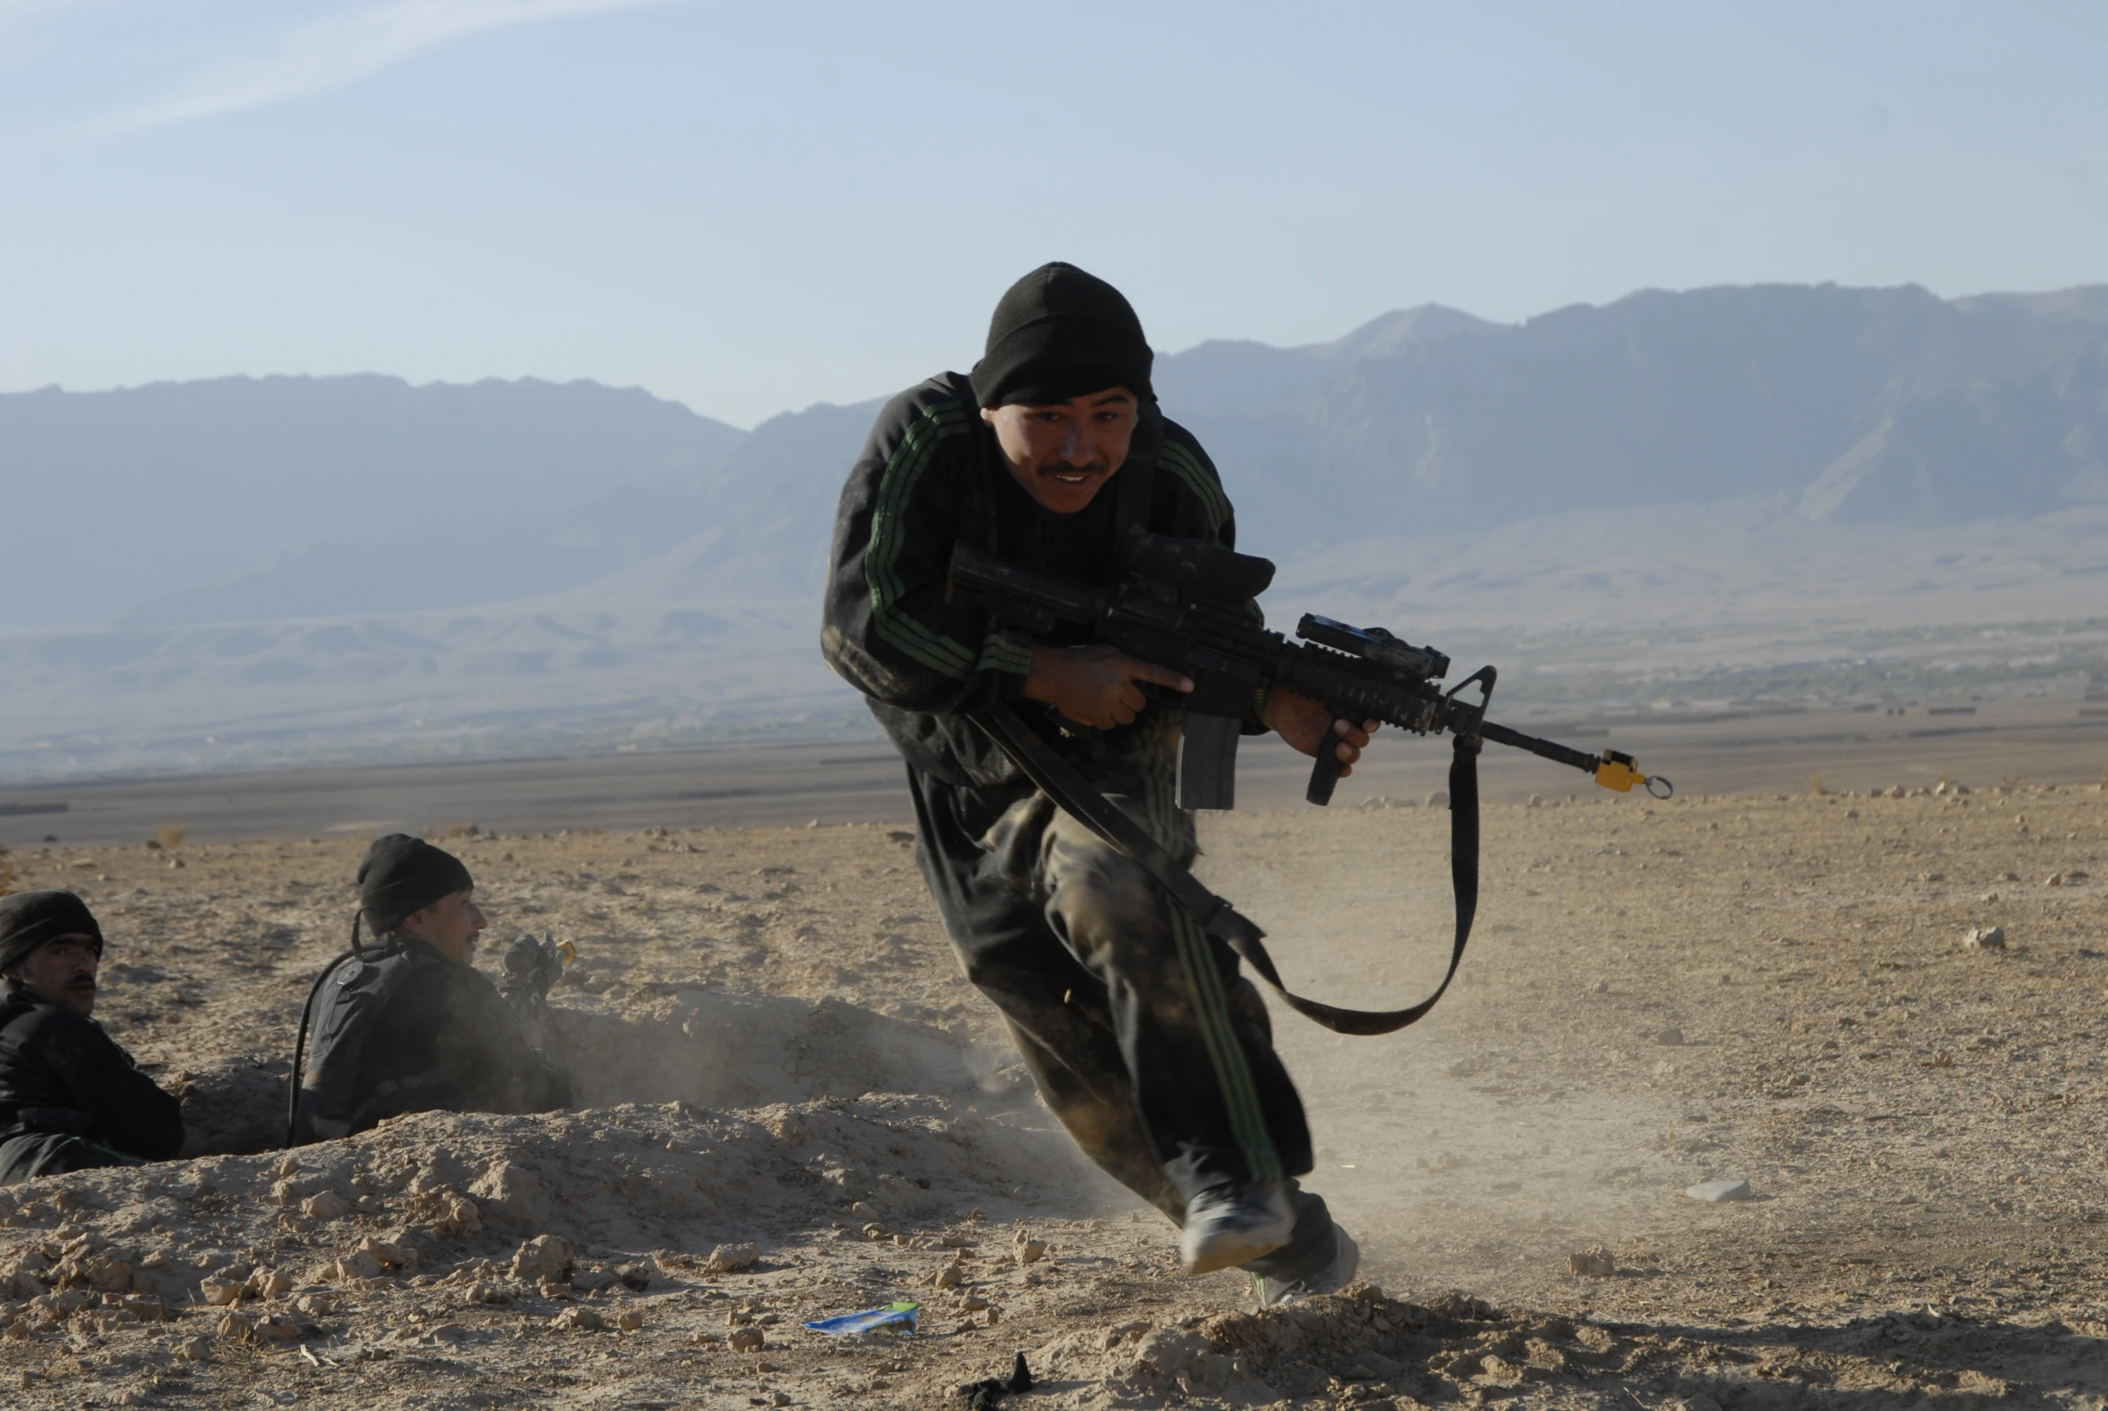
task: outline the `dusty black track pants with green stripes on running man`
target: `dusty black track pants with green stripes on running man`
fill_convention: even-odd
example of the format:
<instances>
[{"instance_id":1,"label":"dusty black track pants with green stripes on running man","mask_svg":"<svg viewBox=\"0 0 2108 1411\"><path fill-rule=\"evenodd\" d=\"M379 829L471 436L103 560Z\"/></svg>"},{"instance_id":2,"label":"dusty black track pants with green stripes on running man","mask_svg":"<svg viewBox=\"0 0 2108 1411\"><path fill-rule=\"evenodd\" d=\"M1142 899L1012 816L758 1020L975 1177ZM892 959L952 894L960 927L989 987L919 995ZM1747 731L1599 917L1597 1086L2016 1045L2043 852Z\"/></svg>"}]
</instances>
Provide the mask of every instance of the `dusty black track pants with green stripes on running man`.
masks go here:
<instances>
[{"instance_id":1,"label":"dusty black track pants with green stripes on running man","mask_svg":"<svg viewBox=\"0 0 2108 1411\"><path fill-rule=\"evenodd\" d=\"M1191 819L1168 788L1153 798L1128 783L1113 802L1191 857ZM1303 1101L1227 946L1029 786L959 788L911 767L909 788L923 878L965 977L1094 1162L1174 1221L1202 1190L1311 1169ZM1248 1266L1258 1274L1330 1264L1324 1200L1292 1200L1296 1238Z\"/></svg>"}]
</instances>

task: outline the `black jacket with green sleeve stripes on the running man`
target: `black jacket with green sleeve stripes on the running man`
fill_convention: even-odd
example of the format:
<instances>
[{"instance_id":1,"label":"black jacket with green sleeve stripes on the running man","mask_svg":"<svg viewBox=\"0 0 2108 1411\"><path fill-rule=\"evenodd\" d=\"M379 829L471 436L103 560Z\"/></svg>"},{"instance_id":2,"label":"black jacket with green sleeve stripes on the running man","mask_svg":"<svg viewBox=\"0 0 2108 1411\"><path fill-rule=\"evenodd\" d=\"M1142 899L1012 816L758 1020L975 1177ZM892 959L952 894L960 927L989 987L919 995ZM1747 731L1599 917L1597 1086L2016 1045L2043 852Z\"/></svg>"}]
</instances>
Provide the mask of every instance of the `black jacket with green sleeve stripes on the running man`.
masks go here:
<instances>
[{"instance_id":1,"label":"black jacket with green sleeve stripes on the running man","mask_svg":"<svg viewBox=\"0 0 2108 1411\"><path fill-rule=\"evenodd\" d=\"M965 539L1016 564L1113 588L1128 522L1235 543L1214 463L1153 404L1090 508L1050 514L1010 476L963 375L909 387L879 413L841 491L820 634L826 663L864 693L909 764L949 783L1016 781L1012 764L961 718L995 701L1020 703L1027 720L1084 762L1088 733L1062 735L1046 708L1022 701L1033 642L982 611L946 604L944 573ZM1090 634L1048 640L1077 644Z\"/></svg>"}]
</instances>

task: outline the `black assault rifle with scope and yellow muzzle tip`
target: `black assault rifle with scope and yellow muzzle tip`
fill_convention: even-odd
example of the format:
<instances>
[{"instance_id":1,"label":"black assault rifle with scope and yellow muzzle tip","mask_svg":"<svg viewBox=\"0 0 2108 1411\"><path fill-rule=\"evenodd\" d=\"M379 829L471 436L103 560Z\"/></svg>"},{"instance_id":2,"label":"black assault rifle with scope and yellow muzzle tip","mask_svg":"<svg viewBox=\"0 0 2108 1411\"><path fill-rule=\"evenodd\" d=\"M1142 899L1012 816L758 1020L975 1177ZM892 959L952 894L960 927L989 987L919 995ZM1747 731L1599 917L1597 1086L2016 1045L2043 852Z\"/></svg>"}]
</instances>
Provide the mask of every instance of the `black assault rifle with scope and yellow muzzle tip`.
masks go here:
<instances>
[{"instance_id":1,"label":"black assault rifle with scope and yellow muzzle tip","mask_svg":"<svg viewBox=\"0 0 2108 1411\"><path fill-rule=\"evenodd\" d=\"M1172 539L1143 529L1128 537L1128 575L1107 592L1088 583L1020 569L970 543L951 552L946 598L974 598L999 621L1033 636L1056 623L1090 623L1096 640L1193 680L1183 695L1185 733L1178 746L1178 807L1229 809L1237 777L1237 739L1252 703L1267 687L1324 701L1339 720L1383 720L1414 735L1490 739L1568 764L1621 794L1642 786L1667 798L1667 779L1642 775L1629 754L1585 754L1568 746L1486 720L1497 672L1490 665L1450 689L1450 659L1414 647L1383 628L1351 628L1307 613L1301 642L1258 623L1252 600L1273 583L1273 562L1199 539ZM1478 699L1463 699L1467 687ZM1336 743L1336 741L1334 741ZM1307 798L1332 802L1339 750L1318 750Z\"/></svg>"}]
</instances>

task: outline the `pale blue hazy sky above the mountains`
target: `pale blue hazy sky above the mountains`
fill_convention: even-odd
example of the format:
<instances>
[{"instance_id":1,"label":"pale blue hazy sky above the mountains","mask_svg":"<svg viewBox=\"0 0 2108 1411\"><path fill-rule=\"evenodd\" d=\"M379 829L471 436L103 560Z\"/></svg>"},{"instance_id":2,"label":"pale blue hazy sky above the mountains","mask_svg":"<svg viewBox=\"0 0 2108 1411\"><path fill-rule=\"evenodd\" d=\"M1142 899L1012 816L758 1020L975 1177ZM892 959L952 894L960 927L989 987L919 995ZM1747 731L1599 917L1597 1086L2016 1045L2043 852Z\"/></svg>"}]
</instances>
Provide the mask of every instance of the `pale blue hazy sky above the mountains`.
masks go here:
<instances>
[{"instance_id":1,"label":"pale blue hazy sky above the mountains","mask_svg":"<svg viewBox=\"0 0 2108 1411\"><path fill-rule=\"evenodd\" d=\"M0 390L968 366L1640 286L2108 282L2108 6L0 0Z\"/></svg>"}]
</instances>

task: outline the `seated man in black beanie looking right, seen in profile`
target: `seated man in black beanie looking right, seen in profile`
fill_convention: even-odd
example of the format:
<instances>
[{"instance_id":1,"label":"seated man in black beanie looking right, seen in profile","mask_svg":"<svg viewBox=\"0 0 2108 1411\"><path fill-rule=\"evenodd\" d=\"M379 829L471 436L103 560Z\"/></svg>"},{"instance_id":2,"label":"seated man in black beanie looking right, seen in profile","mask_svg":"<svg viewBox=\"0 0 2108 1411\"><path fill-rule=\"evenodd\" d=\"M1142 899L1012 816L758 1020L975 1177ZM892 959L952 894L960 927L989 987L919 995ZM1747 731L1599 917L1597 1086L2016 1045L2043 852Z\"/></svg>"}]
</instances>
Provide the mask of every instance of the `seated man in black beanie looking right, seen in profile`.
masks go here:
<instances>
[{"instance_id":1,"label":"seated man in black beanie looking right, seen in profile","mask_svg":"<svg viewBox=\"0 0 2108 1411\"><path fill-rule=\"evenodd\" d=\"M422 838L388 834L367 849L352 950L323 971L301 1017L308 1059L304 1070L295 1045L289 1146L403 1112L569 1106L565 1076L529 1047L521 1013L474 967L485 925L474 889L462 859ZM531 983L546 992L550 979Z\"/></svg>"}]
</instances>

